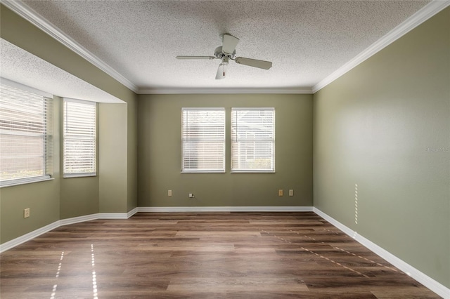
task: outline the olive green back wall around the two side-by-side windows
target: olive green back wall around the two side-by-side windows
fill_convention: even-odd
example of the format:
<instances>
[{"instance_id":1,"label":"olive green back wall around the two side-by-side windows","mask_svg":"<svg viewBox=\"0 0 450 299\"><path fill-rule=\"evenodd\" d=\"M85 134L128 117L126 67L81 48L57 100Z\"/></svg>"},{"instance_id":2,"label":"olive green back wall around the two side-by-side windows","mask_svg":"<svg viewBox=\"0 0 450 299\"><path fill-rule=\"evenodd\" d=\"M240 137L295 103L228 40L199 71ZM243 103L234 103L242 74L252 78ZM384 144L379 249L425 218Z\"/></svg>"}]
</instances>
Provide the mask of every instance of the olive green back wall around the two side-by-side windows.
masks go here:
<instances>
[{"instance_id":1,"label":"olive green back wall around the two side-by-side windows","mask_svg":"<svg viewBox=\"0 0 450 299\"><path fill-rule=\"evenodd\" d=\"M312 95L139 95L138 107L138 206L312 206ZM181 107L226 108L226 173L181 173ZM276 173L230 173L231 107L275 107Z\"/></svg>"}]
</instances>

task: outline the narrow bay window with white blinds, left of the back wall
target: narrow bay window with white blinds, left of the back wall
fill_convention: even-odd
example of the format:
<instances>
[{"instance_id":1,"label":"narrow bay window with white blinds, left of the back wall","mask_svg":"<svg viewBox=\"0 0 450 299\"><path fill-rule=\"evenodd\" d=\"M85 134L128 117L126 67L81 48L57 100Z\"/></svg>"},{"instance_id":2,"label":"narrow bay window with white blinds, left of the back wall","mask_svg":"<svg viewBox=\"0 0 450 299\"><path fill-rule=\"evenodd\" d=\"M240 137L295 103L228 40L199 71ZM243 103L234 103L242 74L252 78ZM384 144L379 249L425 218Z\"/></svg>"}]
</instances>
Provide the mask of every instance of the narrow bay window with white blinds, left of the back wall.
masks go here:
<instances>
[{"instance_id":1,"label":"narrow bay window with white blinds, left of the back wall","mask_svg":"<svg viewBox=\"0 0 450 299\"><path fill-rule=\"evenodd\" d=\"M64 99L64 177L96 175L96 103Z\"/></svg>"}]
</instances>

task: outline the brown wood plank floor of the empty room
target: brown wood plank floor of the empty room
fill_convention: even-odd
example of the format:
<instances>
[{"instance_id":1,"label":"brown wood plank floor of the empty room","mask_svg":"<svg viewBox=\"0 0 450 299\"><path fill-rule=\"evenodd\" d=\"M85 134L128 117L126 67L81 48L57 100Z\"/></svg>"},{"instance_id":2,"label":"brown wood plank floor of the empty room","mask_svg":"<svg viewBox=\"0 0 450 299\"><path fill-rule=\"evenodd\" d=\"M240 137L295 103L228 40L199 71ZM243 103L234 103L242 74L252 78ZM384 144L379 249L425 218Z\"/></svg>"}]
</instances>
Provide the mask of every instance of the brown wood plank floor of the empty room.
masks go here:
<instances>
[{"instance_id":1,"label":"brown wood plank floor of the empty room","mask_svg":"<svg viewBox=\"0 0 450 299\"><path fill-rule=\"evenodd\" d=\"M315 213L137 213L1 253L6 298L439 298Z\"/></svg>"}]
</instances>

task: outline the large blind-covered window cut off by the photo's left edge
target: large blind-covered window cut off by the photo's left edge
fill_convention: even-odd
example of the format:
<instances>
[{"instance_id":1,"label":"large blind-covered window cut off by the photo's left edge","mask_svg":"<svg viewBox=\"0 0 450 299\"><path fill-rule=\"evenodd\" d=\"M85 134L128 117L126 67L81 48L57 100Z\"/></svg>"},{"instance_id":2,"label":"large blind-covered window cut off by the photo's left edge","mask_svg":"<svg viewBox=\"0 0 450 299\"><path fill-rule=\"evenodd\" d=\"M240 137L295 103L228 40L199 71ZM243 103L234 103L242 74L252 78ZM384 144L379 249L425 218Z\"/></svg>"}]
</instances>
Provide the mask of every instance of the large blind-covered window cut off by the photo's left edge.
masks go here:
<instances>
[{"instance_id":1,"label":"large blind-covered window cut off by the photo's left edge","mask_svg":"<svg viewBox=\"0 0 450 299\"><path fill-rule=\"evenodd\" d=\"M52 115L51 98L33 88L1 79L1 186L50 178L53 168Z\"/></svg>"}]
</instances>

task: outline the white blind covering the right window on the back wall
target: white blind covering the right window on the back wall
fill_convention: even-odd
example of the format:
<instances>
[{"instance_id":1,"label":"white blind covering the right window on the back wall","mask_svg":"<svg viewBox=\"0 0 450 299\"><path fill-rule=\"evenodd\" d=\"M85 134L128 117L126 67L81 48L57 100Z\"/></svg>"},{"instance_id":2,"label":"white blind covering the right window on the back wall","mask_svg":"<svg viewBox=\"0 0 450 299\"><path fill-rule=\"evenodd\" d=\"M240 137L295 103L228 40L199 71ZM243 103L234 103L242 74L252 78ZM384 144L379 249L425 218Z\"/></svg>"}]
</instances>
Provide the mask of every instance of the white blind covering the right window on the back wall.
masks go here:
<instances>
[{"instance_id":1,"label":"white blind covering the right window on the back wall","mask_svg":"<svg viewBox=\"0 0 450 299\"><path fill-rule=\"evenodd\" d=\"M231 172L275 172L275 108L231 108Z\"/></svg>"}]
</instances>

